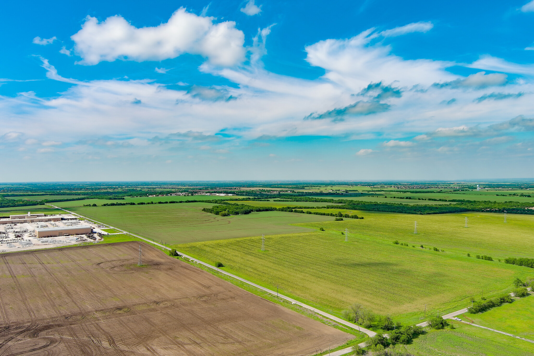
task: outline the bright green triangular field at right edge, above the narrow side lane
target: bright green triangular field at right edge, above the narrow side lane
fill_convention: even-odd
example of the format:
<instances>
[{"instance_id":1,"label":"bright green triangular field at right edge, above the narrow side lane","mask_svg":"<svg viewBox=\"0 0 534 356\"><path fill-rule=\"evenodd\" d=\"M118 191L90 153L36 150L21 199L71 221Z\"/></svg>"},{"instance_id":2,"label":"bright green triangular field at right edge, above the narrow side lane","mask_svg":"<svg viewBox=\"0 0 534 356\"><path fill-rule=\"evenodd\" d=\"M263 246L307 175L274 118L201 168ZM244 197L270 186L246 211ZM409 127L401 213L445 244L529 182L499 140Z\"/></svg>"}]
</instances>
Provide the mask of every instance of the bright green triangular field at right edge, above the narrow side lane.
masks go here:
<instances>
[{"instance_id":1,"label":"bright green triangular field at right edge, above the narrow side lane","mask_svg":"<svg viewBox=\"0 0 534 356\"><path fill-rule=\"evenodd\" d=\"M533 340L534 296L515 299L514 303L506 303L484 313L459 315L459 318Z\"/></svg>"}]
</instances>

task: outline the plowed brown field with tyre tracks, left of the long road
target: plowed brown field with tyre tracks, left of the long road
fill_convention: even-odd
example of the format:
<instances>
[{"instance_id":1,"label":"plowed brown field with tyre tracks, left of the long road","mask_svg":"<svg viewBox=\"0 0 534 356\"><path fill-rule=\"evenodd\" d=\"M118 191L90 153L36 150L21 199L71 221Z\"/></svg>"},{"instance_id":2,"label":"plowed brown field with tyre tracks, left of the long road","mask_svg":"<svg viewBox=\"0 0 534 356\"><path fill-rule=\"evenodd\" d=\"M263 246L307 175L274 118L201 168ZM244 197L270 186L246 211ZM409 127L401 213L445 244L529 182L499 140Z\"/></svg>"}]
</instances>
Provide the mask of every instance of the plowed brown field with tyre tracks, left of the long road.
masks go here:
<instances>
[{"instance_id":1,"label":"plowed brown field with tyre tracks, left of the long road","mask_svg":"<svg viewBox=\"0 0 534 356\"><path fill-rule=\"evenodd\" d=\"M139 242L0 256L0 355L309 355L351 335Z\"/></svg>"}]
</instances>

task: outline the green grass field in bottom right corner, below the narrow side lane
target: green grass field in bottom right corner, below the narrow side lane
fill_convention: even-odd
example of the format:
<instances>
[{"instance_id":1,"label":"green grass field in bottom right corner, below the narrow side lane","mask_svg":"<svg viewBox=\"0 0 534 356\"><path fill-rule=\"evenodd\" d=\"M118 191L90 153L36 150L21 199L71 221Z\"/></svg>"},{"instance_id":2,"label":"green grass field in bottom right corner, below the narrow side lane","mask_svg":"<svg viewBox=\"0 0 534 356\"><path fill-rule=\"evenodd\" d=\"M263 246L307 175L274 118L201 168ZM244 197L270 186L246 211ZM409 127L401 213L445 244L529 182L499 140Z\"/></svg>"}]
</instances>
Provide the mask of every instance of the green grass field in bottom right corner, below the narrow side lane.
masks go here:
<instances>
[{"instance_id":1,"label":"green grass field in bottom right corner, below the narrow side lane","mask_svg":"<svg viewBox=\"0 0 534 356\"><path fill-rule=\"evenodd\" d=\"M429 330L407 351L425 356L532 356L534 344L511 336L454 322L456 329Z\"/></svg>"}]
</instances>

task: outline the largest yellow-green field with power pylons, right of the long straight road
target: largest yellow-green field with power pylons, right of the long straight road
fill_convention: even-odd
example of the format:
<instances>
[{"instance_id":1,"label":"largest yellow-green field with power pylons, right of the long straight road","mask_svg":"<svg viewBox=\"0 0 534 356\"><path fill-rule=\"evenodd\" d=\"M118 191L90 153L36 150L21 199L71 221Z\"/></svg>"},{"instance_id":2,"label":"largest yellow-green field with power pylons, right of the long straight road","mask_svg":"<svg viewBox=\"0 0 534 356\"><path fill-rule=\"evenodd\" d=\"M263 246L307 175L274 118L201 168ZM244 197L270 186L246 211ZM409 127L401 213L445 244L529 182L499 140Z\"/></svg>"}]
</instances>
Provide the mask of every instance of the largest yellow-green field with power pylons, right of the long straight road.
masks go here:
<instances>
[{"instance_id":1,"label":"largest yellow-green field with power pylons, right of the long straight road","mask_svg":"<svg viewBox=\"0 0 534 356\"><path fill-rule=\"evenodd\" d=\"M424 305L441 313L467 306L468 297L491 296L512 289L512 280L533 274L530 268L507 265L497 258L530 256L534 217L514 215L507 224L499 214L464 213L410 216L358 212L363 220L345 219L299 224L325 232L266 236L177 246L208 263L265 287L339 314L358 302L375 312L415 322ZM464 217L468 228L463 227ZM413 234L413 218L418 234ZM341 231L349 230L349 242ZM408 247L392 244L409 243ZM438 247L436 252L426 247ZM412 247L416 246L415 248ZM490 255L486 261L470 252Z\"/></svg>"}]
</instances>

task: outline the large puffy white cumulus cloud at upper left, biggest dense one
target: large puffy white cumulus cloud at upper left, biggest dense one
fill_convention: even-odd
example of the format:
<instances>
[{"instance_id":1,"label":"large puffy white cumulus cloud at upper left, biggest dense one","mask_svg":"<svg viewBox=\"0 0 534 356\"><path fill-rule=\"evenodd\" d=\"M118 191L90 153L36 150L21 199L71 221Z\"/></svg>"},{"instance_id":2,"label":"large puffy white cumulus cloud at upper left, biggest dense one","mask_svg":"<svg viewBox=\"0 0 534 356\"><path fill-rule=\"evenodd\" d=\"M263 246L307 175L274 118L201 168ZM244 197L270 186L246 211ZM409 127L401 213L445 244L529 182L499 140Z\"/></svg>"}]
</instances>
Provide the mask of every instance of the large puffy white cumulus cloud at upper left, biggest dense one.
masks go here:
<instances>
[{"instance_id":1,"label":"large puffy white cumulus cloud at upper left, biggest dense one","mask_svg":"<svg viewBox=\"0 0 534 356\"><path fill-rule=\"evenodd\" d=\"M98 22L88 16L82 29L71 36L80 64L101 61L163 60L183 53L200 54L217 66L233 66L245 58L245 35L235 22L213 23L213 18L186 12L172 14L167 23L136 28L119 15Z\"/></svg>"}]
</instances>

